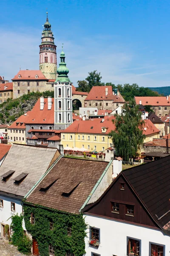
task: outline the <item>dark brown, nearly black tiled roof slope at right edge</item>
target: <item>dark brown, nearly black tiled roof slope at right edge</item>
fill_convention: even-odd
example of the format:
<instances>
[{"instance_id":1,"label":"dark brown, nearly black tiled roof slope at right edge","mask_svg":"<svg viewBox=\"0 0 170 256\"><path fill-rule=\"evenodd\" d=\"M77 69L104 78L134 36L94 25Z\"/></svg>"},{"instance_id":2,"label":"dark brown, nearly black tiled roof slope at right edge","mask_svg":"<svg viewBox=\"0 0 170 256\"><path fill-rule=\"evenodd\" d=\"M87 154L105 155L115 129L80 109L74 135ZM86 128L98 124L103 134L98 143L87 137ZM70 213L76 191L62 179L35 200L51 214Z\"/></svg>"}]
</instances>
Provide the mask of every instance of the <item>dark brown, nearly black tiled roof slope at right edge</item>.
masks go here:
<instances>
[{"instance_id":1,"label":"dark brown, nearly black tiled roof slope at right edge","mask_svg":"<svg viewBox=\"0 0 170 256\"><path fill-rule=\"evenodd\" d=\"M153 218L170 221L170 156L122 171Z\"/></svg>"}]
</instances>

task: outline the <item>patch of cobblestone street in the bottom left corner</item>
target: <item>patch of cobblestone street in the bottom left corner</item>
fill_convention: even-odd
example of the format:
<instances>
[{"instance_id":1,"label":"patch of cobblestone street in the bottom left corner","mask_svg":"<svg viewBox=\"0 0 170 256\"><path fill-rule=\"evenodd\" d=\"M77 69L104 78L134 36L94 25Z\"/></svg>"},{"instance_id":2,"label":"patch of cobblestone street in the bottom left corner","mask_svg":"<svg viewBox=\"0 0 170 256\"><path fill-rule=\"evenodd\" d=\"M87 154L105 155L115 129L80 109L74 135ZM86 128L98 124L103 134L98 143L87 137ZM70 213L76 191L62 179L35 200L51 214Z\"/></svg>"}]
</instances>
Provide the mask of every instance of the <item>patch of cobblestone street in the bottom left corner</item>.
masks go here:
<instances>
[{"instance_id":1,"label":"patch of cobblestone street in the bottom left corner","mask_svg":"<svg viewBox=\"0 0 170 256\"><path fill-rule=\"evenodd\" d=\"M17 247L8 244L6 239L0 238L0 256L26 256L17 251Z\"/></svg>"}]
</instances>

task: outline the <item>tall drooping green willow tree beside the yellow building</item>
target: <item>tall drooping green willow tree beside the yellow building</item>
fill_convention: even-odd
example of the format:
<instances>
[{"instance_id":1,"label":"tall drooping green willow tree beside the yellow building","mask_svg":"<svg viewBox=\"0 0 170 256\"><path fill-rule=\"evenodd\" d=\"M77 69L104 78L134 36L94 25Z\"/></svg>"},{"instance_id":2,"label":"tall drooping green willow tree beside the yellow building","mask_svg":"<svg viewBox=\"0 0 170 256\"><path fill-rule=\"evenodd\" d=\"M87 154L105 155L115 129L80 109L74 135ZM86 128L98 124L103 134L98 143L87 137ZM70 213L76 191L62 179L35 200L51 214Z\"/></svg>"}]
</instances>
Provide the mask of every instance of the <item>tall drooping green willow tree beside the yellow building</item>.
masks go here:
<instances>
[{"instance_id":1,"label":"tall drooping green willow tree beside the yellow building","mask_svg":"<svg viewBox=\"0 0 170 256\"><path fill-rule=\"evenodd\" d=\"M143 145L144 137L141 120L141 112L134 101L125 104L121 115L115 115L112 120L115 131L108 135L113 141L117 155L128 161L136 158Z\"/></svg>"}]
</instances>

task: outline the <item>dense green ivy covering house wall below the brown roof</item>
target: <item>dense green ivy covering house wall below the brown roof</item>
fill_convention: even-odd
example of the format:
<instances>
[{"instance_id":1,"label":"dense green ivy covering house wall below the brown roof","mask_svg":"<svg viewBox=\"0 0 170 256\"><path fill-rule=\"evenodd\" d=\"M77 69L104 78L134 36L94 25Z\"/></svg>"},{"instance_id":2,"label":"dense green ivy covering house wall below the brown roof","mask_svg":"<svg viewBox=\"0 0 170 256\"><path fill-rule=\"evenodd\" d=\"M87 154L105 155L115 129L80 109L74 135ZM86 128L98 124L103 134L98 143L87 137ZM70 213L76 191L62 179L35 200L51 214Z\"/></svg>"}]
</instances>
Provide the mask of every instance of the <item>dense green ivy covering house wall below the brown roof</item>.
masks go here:
<instances>
[{"instance_id":1,"label":"dense green ivy covering house wall below the brown roof","mask_svg":"<svg viewBox=\"0 0 170 256\"><path fill-rule=\"evenodd\" d=\"M24 204L23 209L26 230L37 240L41 256L49 256L49 244L55 247L56 256L65 256L68 250L76 256L85 254L87 226L82 214L74 215L31 204ZM31 213L35 217L34 224L30 221ZM53 230L50 230L51 221ZM68 236L68 227L71 227L71 236Z\"/></svg>"}]
</instances>

